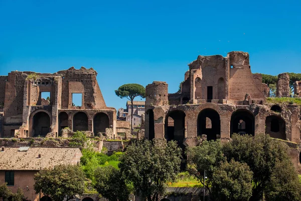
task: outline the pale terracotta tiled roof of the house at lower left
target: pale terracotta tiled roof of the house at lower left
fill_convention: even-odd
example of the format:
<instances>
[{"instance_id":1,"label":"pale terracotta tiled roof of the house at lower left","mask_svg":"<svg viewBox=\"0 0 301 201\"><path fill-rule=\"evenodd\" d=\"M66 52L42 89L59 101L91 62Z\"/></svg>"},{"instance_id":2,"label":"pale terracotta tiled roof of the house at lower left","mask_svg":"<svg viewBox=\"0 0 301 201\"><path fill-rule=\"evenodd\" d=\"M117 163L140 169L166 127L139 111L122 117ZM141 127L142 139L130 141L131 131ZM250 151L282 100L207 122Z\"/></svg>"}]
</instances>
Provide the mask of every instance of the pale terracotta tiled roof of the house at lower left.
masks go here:
<instances>
[{"instance_id":1,"label":"pale terracotta tiled roof of the house at lower left","mask_svg":"<svg viewBox=\"0 0 301 201\"><path fill-rule=\"evenodd\" d=\"M0 170L40 170L55 165L76 164L82 154L78 148L29 147L19 151L20 147L0 147ZM41 158L39 158L41 154Z\"/></svg>"}]
</instances>

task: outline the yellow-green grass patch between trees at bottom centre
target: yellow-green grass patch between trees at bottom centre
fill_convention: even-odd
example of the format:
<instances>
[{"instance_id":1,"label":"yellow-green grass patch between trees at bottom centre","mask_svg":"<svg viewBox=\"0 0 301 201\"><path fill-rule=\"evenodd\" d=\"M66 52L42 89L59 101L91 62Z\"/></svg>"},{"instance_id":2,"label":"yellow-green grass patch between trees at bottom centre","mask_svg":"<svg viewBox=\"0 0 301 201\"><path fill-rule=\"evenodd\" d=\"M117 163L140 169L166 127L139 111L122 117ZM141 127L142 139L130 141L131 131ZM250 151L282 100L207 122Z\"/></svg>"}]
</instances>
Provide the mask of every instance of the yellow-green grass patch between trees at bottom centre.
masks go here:
<instances>
[{"instance_id":1,"label":"yellow-green grass patch between trees at bottom centre","mask_svg":"<svg viewBox=\"0 0 301 201\"><path fill-rule=\"evenodd\" d=\"M203 185L188 172L181 172L177 175L177 181L169 183L169 187L203 187Z\"/></svg>"}]
</instances>

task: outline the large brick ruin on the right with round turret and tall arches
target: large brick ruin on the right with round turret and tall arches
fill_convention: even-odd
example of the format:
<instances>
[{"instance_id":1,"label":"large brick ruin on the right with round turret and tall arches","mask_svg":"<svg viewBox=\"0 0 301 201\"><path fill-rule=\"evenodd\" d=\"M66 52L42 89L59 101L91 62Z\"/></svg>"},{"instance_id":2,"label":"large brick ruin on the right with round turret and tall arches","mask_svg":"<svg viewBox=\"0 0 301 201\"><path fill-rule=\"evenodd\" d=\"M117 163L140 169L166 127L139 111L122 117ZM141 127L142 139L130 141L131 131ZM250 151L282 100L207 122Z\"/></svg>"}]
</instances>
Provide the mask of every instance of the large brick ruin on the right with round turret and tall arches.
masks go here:
<instances>
[{"instance_id":1,"label":"large brick ruin on the right with round turret and tall arches","mask_svg":"<svg viewBox=\"0 0 301 201\"><path fill-rule=\"evenodd\" d=\"M301 95L301 81L295 91ZM277 96L289 96L289 76L278 75ZM168 84L154 81L146 86L145 138L176 140L185 148L207 140L229 140L233 133L269 134L287 141L293 163L301 171L301 107L271 104L269 88L261 74L252 74L249 54L229 52L198 56L189 64L181 90L168 93Z\"/></svg>"}]
</instances>

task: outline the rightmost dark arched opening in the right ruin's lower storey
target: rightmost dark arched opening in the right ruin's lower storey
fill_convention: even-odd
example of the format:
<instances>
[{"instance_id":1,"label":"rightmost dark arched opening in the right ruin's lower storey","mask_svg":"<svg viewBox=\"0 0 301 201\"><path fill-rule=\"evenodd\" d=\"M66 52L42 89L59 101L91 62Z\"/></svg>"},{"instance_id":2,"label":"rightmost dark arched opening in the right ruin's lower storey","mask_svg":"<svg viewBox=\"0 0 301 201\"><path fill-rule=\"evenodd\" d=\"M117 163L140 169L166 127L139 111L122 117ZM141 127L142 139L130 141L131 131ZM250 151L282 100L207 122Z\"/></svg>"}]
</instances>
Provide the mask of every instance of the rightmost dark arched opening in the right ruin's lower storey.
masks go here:
<instances>
[{"instance_id":1,"label":"rightmost dark arched opening in the right ruin's lower storey","mask_svg":"<svg viewBox=\"0 0 301 201\"><path fill-rule=\"evenodd\" d=\"M268 116L265 119L265 133L272 138L285 140L285 121L278 116Z\"/></svg>"}]
</instances>

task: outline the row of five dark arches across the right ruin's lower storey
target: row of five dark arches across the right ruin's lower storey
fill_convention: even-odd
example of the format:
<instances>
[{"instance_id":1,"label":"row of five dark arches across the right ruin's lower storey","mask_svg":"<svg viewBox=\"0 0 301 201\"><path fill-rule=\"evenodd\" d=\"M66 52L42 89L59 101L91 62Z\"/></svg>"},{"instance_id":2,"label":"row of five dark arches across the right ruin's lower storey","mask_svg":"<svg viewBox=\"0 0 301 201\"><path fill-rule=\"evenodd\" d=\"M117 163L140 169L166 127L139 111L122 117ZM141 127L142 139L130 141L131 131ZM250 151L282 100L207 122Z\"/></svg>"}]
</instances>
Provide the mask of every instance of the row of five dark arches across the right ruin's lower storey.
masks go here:
<instances>
[{"instance_id":1,"label":"row of five dark arches across the right ruin's lower storey","mask_svg":"<svg viewBox=\"0 0 301 201\"><path fill-rule=\"evenodd\" d=\"M154 112L148 110L149 139L155 138ZM183 141L185 138L185 117L181 110L169 112L165 118L165 138L169 140ZM190 120L188 120L190 121ZM230 136L237 134L255 134L255 117L245 109L235 111L231 115ZM273 138L286 139L285 121L276 115L270 115L265 120L265 133ZM221 134L220 115L214 109L203 109L197 119L197 135L207 135L207 140L216 140Z\"/></svg>"}]
</instances>

